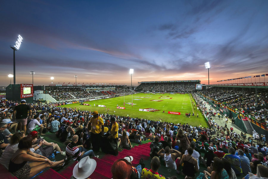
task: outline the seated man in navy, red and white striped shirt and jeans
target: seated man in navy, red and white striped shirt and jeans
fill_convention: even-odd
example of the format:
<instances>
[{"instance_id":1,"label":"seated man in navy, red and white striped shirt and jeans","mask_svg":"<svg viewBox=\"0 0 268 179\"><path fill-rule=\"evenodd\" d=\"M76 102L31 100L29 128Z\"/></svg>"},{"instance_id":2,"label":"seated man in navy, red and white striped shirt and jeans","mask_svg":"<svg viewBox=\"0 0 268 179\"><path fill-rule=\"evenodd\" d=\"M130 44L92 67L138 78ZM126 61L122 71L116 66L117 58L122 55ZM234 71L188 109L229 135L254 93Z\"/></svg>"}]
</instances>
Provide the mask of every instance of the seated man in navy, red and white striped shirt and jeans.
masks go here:
<instances>
[{"instance_id":1,"label":"seated man in navy, red and white striped shirt and jeans","mask_svg":"<svg viewBox=\"0 0 268 179\"><path fill-rule=\"evenodd\" d=\"M96 158L99 158L99 155L94 154L93 150L86 150L82 145L78 145L78 135L74 135L72 137L72 142L69 143L66 147L66 156L71 156L73 160L77 160L79 157L80 159L87 157L87 156L93 156Z\"/></svg>"}]
</instances>

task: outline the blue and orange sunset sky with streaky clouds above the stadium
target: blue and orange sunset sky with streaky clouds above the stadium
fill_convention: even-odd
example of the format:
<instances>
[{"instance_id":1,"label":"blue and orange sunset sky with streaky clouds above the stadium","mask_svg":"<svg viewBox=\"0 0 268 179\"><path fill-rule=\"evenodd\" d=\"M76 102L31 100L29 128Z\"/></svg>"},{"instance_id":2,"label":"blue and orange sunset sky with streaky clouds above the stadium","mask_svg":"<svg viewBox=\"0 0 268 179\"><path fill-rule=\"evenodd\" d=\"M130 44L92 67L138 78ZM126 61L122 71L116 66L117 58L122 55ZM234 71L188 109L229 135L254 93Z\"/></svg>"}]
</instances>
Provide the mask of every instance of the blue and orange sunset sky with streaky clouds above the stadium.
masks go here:
<instances>
[{"instance_id":1,"label":"blue and orange sunset sky with streaky clouds above the stadium","mask_svg":"<svg viewBox=\"0 0 268 179\"><path fill-rule=\"evenodd\" d=\"M268 1L1 1L0 86L218 80L268 73ZM261 78L264 81L264 78ZM268 81L268 76L265 81ZM12 79L13 82L13 79Z\"/></svg>"}]
</instances>

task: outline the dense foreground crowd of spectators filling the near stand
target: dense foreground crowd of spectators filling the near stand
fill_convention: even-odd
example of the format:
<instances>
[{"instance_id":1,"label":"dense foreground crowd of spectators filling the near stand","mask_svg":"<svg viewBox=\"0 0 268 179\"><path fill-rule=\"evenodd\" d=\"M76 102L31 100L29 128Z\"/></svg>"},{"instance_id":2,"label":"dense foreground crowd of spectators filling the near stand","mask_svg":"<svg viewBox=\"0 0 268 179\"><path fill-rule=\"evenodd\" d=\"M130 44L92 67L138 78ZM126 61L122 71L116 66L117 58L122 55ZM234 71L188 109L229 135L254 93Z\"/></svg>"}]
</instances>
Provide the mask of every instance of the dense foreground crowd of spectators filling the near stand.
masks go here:
<instances>
[{"instance_id":1,"label":"dense foreground crowd of spectators filling the near stand","mask_svg":"<svg viewBox=\"0 0 268 179\"><path fill-rule=\"evenodd\" d=\"M196 101L195 107L198 107L200 112L215 115L214 111L205 107L204 101L197 94L193 94L193 98ZM152 141L151 169L144 168L141 159L138 166L134 167L138 178L159 177L160 174L157 172L161 160L165 162L167 168L176 171L178 175L199 179L236 178L249 172L256 173L259 167L267 168L268 146L263 145L263 141L266 141L265 136L258 143L248 142L242 136L236 136L236 132L231 129L229 131L226 126L221 130L225 128L228 135L222 135L218 130L219 125L213 120L210 121L211 127L208 128L202 127L202 124L191 126L188 123L165 122L161 119L152 121L128 115L99 114L97 111L55 107L51 104L26 104L26 101L21 101L21 104L1 101L0 105L2 151L0 163L17 178L32 177L46 167L61 169L70 160L79 161L88 156L99 157L97 155L99 149L107 153L116 153L117 148L113 148L111 143L131 150L131 143L140 144L143 140ZM25 119L27 130L22 131ZM6 135L4 132L6 129L11 129L11 123L18 123L18 127L13 129L15 130L13 135ZM55 133L59 140L67 145L65 151L59 149L56 143L43 140L41 137L45 135L44 130ZM27 154L28 148L31 152ZM66 155L66 158L52 161L54 152L60 152ZM29 161L34 163L31 164ZM38 165L36 162L44 163L41 164L42 167L36 168ZM112 168L119 167L118 163L131 164L131 156L129 160L124 158L116 161ZM207 170L198 172L200 164L206 166ZM133 168L130 169L130 172L126 170L124 175L131 175ZM114 178L117 177L115 171L117 170L112 169ZM267 174L259 175L264 177Z\"/></svg>"}]
</instances>

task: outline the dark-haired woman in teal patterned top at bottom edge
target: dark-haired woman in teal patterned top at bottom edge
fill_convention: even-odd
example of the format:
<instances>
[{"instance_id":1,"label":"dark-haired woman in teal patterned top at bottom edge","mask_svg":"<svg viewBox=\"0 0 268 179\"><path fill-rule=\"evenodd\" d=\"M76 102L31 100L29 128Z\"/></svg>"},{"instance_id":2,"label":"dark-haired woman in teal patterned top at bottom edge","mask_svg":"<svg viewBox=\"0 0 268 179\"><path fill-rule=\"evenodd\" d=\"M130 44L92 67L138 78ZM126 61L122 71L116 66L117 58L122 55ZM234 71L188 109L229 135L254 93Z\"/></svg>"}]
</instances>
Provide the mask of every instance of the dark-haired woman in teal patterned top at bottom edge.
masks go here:
<instances>
[{"instance_id":1,"label":"dark-haired woman in teal patterned top at bottom edge","mask_svg":"<svg viewBox=\"0 0 268 179\"><path fill-rule=\"evenodd\" d=\"M226 170L224 169L223 161L220 158L215 157L212 172L209 173L207 171L204 171L204 173L200 173L197 179L201 178L229 179L229 176Z\"/></svg>"}]
</instances>

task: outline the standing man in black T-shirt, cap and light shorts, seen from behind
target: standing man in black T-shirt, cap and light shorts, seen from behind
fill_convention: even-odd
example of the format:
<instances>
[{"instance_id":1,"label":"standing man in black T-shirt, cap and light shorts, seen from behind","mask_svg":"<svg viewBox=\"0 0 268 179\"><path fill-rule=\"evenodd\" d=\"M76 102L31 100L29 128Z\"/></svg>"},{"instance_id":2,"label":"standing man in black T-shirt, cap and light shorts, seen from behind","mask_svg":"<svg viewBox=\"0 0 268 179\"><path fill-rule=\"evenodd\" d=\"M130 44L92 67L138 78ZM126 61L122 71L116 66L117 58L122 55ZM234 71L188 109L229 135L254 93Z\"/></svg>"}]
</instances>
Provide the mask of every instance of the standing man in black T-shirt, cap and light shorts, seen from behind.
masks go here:
<instances>
[{"instance_id":1,"label":"standing man in black T-shirt, cap and light shorts, seen from behind","mask_svg":"<svg viewBox=\"0 0 268 179\"><path fill-rule=\"evenodd\" d=\"M32 115L32 109L29 105L26 104L26 101L24 99L21 100L21 104L15 106L13 110L13 117L18 122L19 129L24 131L24 134L26 133L27 130L26 125L27 125L28 111L30 117Z\"/></svg>"}]
</instances>

